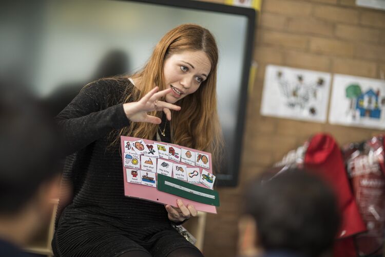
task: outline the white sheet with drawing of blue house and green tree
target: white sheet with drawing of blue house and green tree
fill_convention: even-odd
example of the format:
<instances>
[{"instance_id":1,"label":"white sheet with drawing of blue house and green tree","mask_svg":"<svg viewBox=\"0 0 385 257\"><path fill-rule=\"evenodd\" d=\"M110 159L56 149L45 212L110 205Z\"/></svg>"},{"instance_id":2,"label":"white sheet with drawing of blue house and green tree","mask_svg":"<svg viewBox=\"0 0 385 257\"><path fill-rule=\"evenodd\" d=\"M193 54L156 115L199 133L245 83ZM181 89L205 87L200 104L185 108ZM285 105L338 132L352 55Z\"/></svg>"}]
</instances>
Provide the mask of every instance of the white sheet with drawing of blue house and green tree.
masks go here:
<instances>
[{"instance_id":1,"label":"white sheet with drawing of blue house and green tree","mask_svg":"<svg viewBox=\"0 0 385 257\"><path fill-rule=\"evenodd\" d=\"M385 128L385 81L334 75L329 122Z\"/></svg>"}]
</instances>

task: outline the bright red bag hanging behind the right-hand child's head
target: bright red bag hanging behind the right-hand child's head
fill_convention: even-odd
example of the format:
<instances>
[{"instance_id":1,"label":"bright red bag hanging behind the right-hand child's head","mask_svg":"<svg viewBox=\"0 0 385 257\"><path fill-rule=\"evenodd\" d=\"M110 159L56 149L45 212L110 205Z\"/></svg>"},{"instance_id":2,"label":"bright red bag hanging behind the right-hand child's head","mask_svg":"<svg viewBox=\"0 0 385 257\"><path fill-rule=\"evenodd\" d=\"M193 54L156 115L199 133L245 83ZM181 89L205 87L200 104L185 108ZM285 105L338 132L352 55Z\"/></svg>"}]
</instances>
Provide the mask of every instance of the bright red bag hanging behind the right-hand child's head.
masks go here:
<instances>
[{"instance_id":1,"label":"bright red bag hanging behind the right-hand child's head","mask_svg":"<svg viewBox=\"0 0 385 257\"><path fill-rule=\"evenodd\" d=\"M350 187L342 153L334 138L328 134L316 134L276 163L275 167L267 172L266 179L290 167L305 168L323 178L334 189L342 224L336 236L333 255L356 257L353 236L365 232L366 228Z\"/></svg>"}]
</instances>

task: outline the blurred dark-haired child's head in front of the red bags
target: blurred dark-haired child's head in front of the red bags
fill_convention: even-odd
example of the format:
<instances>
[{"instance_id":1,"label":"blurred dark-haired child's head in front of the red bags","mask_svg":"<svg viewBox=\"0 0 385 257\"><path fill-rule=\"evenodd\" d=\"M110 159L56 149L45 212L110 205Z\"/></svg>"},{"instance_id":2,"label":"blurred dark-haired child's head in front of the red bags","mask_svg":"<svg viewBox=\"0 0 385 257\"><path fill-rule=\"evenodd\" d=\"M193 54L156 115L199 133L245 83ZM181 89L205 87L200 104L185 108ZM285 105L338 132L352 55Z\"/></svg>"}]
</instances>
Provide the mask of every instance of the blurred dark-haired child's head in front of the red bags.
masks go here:
<instances>
[{"instance_id":1,"label":"blurred dark-haired child's head in front of the red bags","mask_svg":"<svg viewBox=\"0 0 385 257\"><path fill-rule=\"evenodd\" d=\"M247 229L241 231L242 240L252 238L254 252L259 248L319 256L331 248L339 213L334 193L320 178L288 169L253 181L244 199L240 228Z\"/></svg>"}]
</instances>

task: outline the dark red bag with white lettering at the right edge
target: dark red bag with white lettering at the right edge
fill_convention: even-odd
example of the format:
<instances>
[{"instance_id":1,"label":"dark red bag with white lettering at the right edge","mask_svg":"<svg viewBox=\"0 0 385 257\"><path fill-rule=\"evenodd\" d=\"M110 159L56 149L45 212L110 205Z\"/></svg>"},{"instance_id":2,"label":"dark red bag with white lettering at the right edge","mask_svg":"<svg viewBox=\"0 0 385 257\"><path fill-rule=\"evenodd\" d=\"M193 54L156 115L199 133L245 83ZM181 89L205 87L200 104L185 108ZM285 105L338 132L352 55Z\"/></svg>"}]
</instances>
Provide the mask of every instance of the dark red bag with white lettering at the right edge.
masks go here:
<instances>
[{"instance_id":1,"label":"dark red bag with white lettering at the right edge","mask_svg":"<svg viewBox=\"0 0 385 257\"><path fill-rule=\"evenodd\" d=\"M383 136L343 148L359 211L368 229L356 235L359 256L383 254L385 231L385 164Z\"/></svg>"}]
</instances>

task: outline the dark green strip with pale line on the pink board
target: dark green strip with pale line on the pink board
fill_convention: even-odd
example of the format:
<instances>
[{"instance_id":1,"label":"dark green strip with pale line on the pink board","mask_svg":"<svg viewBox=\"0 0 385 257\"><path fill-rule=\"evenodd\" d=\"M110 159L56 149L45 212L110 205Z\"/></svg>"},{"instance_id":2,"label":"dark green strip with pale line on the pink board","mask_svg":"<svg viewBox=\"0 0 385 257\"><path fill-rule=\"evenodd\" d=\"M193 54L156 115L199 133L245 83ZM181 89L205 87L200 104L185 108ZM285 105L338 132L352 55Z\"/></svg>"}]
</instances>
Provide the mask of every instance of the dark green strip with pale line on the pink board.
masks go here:
<instances>
[{"instance_id":1,"label":"dark green strip with pale line on the pink board","mask_svg":"<svg viewBox=\"0 0 385 257\"><path fill-rule=\"evenodd\" d=\"M198 187L185 181L158 174L159 191L174 194L206 205L219 206L218 191Z\"/></svg>"}]
</instances>

